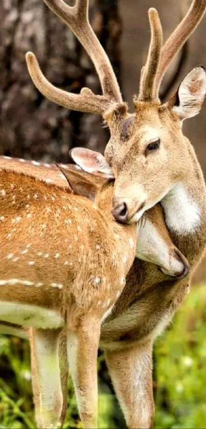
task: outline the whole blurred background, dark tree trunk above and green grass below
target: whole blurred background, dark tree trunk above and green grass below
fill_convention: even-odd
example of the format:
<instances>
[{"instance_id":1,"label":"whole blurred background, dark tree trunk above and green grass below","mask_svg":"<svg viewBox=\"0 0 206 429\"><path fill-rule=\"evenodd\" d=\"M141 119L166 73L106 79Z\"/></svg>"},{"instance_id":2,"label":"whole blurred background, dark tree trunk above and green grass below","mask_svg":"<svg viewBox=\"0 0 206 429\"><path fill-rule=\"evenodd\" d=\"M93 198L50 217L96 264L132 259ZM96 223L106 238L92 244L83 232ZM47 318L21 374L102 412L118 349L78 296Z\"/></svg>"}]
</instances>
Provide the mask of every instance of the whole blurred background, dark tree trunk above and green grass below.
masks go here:
<instances>
[{"instance_id":1,"label":"whole blurred background, dark tree trunk above and green grass below","mask_svg":"<svg viewBox=\"0 0 206 429\"><path fill-rule=\"evenodd\" d=\"M73 5L74 2L67 3ZM140 70L147 56L150 31L147 11L156 7L164 40L186 13L191 0L90 0L89 15L118 76L132 110ZM206 66L206 16L168 70L163 100L196 65ZM25 53L33 51L48 79L67 91L82 86L100 93L98 77L75 36L42 0L2 0L0 3L0 155L68 163L74 146L104 151L108 130L98 116L66 110L44 99L31 83ZM206 109L186 121L206 174ZM156 428L206 427L206 258L193 279L172 326L157 339L154 350ZM33 428L28 343L0 335L0 427ZM112 390L104 357L99 357L101 428L125 427ZM64 427L81 427L72 383Z\"/></svg>"}]
</instances>

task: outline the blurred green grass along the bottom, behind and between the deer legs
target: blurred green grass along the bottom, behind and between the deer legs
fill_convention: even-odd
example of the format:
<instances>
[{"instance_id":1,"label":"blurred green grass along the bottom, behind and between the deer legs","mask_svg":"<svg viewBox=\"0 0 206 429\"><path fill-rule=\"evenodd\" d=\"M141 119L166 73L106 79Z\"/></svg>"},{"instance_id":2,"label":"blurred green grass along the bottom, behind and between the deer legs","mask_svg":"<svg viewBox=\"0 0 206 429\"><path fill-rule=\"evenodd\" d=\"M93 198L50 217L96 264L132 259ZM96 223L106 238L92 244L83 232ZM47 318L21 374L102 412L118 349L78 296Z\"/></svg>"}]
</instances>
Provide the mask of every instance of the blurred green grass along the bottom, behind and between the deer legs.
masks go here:
<instances>
[{"instance_id":1,"label":"blurred green grass along the bottom, behind and between the deer legs","mask_svg":"<svg viewBox=\"0 0 206 429\"><path fill-rule=\"evenodd\" d=\"M194 288L155 347L155 428L206 427L206 289ZM99 427L124 427L99 357ZM71 380L64 428L81 427ZM29 347L0 336L0 428L35 428Z\"/></svg>"}]
</instances>

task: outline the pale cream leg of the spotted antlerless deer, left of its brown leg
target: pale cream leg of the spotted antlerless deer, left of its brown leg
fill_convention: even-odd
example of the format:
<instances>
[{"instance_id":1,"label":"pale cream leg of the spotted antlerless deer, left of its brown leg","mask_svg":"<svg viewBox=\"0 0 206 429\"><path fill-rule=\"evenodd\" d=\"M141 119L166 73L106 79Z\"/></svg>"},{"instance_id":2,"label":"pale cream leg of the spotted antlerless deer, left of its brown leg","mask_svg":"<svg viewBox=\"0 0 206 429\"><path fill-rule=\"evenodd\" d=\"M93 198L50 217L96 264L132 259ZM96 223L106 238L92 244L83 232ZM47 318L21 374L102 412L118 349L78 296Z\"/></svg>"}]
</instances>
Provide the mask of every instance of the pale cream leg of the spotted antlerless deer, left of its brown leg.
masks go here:
<instances>
[{"instance_id":1,"label":"pale cream leg of the spotted antlerless deer, left of its brown leg","mask_svg":"<svg viewBox=\"0 0 206 429\"><path fill-rule=\"evenodd\" d=\"M30 330L32 385L37 427L61 426L63 396L59 367L60 330Z\"/></svg>"}]
</instances>

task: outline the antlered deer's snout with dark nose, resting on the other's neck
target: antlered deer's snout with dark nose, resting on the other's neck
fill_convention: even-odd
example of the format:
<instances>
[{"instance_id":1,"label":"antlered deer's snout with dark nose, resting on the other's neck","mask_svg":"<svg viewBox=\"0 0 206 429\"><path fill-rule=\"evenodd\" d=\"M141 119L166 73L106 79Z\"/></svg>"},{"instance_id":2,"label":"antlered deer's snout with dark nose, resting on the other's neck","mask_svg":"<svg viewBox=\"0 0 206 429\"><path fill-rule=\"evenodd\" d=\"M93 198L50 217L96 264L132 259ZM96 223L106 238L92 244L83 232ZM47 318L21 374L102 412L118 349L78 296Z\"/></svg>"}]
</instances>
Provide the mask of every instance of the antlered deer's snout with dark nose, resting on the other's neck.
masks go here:
<instances>
[{"instance_id":1,"label":"antlered deer's snout with dark nose, resting on the other's neck","mask_svg":"<svg viewBox=\"0 0 206 429\"><path fill-rule=\"evenodd\" d=\"M129 199L113 197L112 215L115 220L121 223L137 222L143 214L145 202L145 199L140 201L133 201L131 207L131 201Z\"/></svg>"}]
</instances>

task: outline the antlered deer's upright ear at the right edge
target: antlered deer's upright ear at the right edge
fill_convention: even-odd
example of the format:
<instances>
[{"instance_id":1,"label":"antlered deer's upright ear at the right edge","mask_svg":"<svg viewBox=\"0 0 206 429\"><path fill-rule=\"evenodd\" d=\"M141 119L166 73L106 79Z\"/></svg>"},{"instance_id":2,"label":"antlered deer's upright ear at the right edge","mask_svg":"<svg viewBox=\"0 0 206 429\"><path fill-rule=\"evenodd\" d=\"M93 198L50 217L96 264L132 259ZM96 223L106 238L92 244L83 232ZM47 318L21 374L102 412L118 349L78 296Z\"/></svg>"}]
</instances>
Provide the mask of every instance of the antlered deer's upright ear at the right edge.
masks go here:
<instances>
[{"instance_id":1,"label":"antlered deer's upright ear at the right edge","mask_svg":"<svg viewBox=\"0 0 206 429\"><path fill-rule=\"evenodd\" d=\"M206 74L202 66L195 67L181 82L169 106L181 120L198 115L206 94Z\"/></svg>"}]
</instances>

